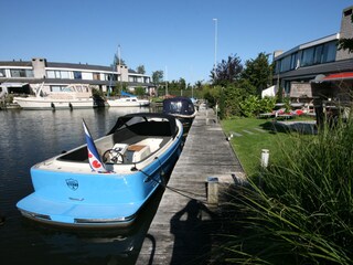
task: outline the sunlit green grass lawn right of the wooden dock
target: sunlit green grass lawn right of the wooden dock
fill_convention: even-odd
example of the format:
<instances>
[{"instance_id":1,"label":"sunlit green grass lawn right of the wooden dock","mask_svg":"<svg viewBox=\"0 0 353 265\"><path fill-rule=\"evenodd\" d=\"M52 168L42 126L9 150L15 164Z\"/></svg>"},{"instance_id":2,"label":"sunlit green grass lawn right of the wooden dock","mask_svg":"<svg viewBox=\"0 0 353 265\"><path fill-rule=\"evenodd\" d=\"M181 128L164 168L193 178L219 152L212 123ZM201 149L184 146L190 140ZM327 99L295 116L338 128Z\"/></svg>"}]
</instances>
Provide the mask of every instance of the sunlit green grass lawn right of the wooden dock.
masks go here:
<instances>
[{"instance_id":1,"label":"sunlit green grass lawn right of the wooden dock","mask_svg":"<svg viewBox=\"0 0 353 265\"><path fill-rule=\"evenodd\" d=\"M295 120L303 121L308 120L308 118L296 118ZM274 123L272 119L227 119L222 120L222 127L226 135L234 134L231 144L248 176L252 176L256 168L260 166L261 149L269 150L270 160L280 159L277 150L282 149L284 145L290 145L293 138L314 137L312 135L289 131Z\"/></svg>"}]
</instances>

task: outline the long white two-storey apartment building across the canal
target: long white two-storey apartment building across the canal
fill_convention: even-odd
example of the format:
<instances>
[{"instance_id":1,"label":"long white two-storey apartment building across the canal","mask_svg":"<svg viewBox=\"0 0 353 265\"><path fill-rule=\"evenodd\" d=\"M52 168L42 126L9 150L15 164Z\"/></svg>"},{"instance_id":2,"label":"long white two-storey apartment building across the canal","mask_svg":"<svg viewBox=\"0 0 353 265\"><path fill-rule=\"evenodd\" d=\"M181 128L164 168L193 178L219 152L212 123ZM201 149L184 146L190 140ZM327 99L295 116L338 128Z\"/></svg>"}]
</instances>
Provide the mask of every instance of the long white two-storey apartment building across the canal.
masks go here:
<instances>
[{"instance_id":1,"label":"long white two-storey apartment building across the canal","mask_svg":"<svg viewBox=\"0 0 353 265\"><path fill-rule=\"evenodd\" d=\"M43 92L64 89L67 85L89 85L108 92L119 84L128 89L143 87L147 93L153 89L149 75L138 74L126 65L100 66L89 64L56 63L34 57L31 61L0 61L0 84L9 93L30 93L31 87L44 84Z\"/></svg>"}]
</instances>

